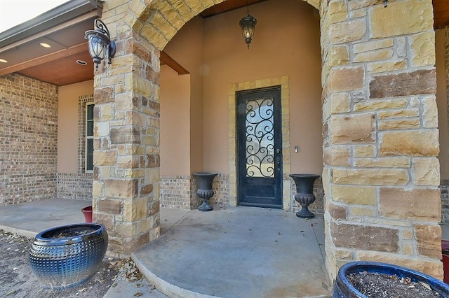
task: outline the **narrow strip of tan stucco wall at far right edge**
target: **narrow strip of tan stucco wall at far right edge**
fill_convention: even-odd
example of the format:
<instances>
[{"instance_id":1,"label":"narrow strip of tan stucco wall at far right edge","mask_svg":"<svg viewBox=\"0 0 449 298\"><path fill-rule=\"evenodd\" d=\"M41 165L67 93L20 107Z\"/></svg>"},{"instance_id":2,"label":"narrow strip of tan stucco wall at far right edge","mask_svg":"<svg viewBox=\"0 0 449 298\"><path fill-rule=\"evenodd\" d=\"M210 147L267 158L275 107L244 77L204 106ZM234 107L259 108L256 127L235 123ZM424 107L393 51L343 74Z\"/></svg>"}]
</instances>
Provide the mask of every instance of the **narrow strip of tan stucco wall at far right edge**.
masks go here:
<instances>
[{"instance_id":1,"label":"narrow strip of tan stucco wall at far right edge","mask_svg":"<svg viewBox=\"0 0 449 298\"><path fill-rule=\"evenodd\" d=\"M438 105L438 129L440 132L440 175L449 179L448 99L446 94L444 30L435 32L436 50L436 104Z\"/></svg>"}]
</instances>

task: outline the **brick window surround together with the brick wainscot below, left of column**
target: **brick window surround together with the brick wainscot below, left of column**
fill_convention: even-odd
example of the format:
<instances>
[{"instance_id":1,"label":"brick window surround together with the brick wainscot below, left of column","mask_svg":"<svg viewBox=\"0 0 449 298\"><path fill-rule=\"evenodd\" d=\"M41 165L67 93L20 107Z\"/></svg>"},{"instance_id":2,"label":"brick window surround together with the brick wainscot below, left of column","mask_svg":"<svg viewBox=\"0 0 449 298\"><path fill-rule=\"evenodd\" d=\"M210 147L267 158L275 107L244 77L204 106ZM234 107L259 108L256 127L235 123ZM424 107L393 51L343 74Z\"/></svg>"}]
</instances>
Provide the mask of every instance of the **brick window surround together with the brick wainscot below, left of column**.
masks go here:
<instances>
[{"instance_id":1,"label":"brick window surround together with the brick wainscot below, left of column","mask_svg":"<svg viewBox=\"0 0 449 298\"><path fill-rule=\"evenodd\" d=\"M92 201L93 173L86 173L86 103L93 94L78 99L78 171L58 173L58 198Z\"/></svg>"}]
</instances>

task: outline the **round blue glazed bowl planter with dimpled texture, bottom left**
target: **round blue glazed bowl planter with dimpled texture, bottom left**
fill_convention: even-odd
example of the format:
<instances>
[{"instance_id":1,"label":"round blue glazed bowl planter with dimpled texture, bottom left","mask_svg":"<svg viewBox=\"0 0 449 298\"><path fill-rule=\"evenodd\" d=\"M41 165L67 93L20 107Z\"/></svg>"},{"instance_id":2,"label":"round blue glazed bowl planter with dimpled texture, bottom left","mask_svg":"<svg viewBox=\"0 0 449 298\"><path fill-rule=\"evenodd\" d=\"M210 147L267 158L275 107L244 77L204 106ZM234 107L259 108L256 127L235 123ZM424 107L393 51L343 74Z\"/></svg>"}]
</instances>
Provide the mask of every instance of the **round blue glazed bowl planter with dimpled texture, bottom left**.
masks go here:
<instances>
[{"instance_id":1,"label":"round blue glazed bowl planter with dimpled texture, bottom left","mask_svg":"<svg viewBox=\"0 0 449 298\"><path fill-rule=\"evenodd\" d=\"M45 288L62 289L87 281L107 250L104 225L82 223L40 232L29 251L29 265Z\"/></svg>"}]
</instances>

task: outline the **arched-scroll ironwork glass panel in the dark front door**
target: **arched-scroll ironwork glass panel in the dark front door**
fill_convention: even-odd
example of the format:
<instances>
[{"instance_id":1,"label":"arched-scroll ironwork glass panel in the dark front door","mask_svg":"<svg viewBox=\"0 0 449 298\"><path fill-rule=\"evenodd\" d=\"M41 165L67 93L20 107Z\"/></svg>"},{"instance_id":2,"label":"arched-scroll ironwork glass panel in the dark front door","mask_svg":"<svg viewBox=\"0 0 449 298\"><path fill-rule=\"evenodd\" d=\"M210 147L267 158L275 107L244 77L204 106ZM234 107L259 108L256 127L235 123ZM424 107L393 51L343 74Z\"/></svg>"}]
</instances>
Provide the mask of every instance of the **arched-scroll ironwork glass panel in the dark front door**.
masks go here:
<instances>
[{"instance_id":1,"label":"arched-scroll ironwork glass panel in the dark front door","mask_svg":"<svg viewBox=\"0 0 449 298\"><path fill-rule=\"evenodd\" d=\"M273 99L246 101L246 176L274 177Z\"/></svg>"}]
</instances>

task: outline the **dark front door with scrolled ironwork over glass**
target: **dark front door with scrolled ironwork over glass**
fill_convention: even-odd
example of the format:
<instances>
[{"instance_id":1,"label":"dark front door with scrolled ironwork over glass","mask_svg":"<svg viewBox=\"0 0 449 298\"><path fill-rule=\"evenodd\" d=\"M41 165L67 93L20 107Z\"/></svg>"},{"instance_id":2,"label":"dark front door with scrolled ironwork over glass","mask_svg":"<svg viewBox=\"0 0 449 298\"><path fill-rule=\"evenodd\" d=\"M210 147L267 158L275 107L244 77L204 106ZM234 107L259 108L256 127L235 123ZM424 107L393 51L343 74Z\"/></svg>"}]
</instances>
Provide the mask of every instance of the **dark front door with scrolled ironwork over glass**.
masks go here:
<instances>
[{"instance_id":1,"label":"dark front door with scrolled ironwork over glass","mask_svg":"<svg viewBox=\"0 0 449 298\"><path fill-rule=\"evenodd\" d=\"M239 205L282 208L281 87L236 97Z\"/></svg>"}]
</instances>

